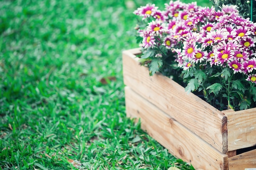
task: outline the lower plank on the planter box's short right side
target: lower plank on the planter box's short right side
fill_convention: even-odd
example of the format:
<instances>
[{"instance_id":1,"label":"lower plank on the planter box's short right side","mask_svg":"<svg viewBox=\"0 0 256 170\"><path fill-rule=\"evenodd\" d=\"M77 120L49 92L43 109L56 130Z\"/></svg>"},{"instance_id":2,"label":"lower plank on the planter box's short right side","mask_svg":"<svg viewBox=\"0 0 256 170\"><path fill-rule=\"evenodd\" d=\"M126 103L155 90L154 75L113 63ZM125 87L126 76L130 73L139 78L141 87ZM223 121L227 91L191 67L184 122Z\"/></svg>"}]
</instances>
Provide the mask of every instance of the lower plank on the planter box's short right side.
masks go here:
<instances>
[{"instance_id":1,"label":"lower plank on the planter box's short right side","mask_svg":"<svg viewBox=\"0 0 256 170\"><path fill-rule=\"evenodd\" d=\"M256 149L229 158L229 170L256 168Z\"/></svg>"}]
</instances>

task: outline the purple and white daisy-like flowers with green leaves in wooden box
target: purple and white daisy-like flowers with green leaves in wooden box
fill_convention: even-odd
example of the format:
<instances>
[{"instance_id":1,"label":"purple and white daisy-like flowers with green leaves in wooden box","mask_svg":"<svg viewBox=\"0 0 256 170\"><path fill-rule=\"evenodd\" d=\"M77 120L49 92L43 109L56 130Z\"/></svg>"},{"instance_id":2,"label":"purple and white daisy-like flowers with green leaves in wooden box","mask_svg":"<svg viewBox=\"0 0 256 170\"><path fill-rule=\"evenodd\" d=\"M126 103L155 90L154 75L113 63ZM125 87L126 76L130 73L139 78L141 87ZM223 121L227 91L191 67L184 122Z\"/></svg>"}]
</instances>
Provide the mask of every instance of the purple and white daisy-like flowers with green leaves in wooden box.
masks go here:
<instances>
[{"instance_id":1,"label":"purple and white daisy-like flowers with green leaves in wooden box","mask_svg":"<svg viewBox=\"0 0 256 170\"><path fill-rule=\"evenodd\" d=\"M241 17L236 5L216 11L171 1L164 11L147 4L134 13L148 22L137 29L151 74L176 71L186 91L202 91L220 110L256 105L256 23Z\"/></svg>"}]
</instances>

